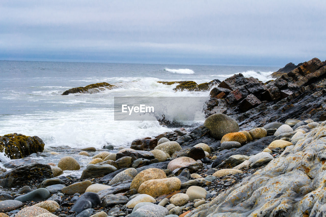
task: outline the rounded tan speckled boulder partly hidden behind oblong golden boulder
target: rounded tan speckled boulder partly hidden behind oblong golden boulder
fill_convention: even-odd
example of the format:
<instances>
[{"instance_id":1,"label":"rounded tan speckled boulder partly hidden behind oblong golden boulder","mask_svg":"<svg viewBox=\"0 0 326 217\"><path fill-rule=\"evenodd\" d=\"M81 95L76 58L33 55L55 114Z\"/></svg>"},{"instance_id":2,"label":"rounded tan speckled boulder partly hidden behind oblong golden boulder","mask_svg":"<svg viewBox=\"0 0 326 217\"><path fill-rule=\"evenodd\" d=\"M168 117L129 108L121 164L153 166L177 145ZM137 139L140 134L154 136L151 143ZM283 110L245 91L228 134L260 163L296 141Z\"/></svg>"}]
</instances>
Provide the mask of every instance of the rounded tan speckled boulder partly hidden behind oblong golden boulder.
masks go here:
<instances>
[{"instance_id":1,"label":"rounded tan speckled boulder partly hidden behind oblong golden boulder","mask_svg":"<svg viewBox=\"0 0 326 217\"><path fill-rule=\"evenodd\" d=\"M139 186L145 181L153 179L165 179L166 174L163 170L157 168L149 168L138 173L135 178L132 180L130 185L131 189L136 189L138 191Z\"/></svg>"}]
</instances>

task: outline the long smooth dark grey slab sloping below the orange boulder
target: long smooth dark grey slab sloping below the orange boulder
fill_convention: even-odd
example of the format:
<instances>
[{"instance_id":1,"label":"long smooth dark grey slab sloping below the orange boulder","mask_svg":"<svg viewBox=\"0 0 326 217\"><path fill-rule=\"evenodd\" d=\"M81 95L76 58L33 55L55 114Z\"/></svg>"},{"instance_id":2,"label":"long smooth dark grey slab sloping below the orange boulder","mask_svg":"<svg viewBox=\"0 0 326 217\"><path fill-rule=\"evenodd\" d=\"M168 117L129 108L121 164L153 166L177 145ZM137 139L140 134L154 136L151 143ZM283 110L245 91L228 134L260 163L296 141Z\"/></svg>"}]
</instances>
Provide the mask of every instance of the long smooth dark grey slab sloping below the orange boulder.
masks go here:
<instances>
[{"instance_id":1,"label":"long smooth dark grey slab sloping below the orange boulder","mask_svg":"<svg viewBox=\"0 0 326 217\"><path fill-rule=\"evenodd\" d=\"M241 154L241 155L252 155L262 152L274 139L274 136L263 137L254 142L247 143L242 147L233 150L223 150L217 154L217 159L212 164L212 168L220 165L224 160L229 158L232 155Z\"/></svg>"}]
</instances>

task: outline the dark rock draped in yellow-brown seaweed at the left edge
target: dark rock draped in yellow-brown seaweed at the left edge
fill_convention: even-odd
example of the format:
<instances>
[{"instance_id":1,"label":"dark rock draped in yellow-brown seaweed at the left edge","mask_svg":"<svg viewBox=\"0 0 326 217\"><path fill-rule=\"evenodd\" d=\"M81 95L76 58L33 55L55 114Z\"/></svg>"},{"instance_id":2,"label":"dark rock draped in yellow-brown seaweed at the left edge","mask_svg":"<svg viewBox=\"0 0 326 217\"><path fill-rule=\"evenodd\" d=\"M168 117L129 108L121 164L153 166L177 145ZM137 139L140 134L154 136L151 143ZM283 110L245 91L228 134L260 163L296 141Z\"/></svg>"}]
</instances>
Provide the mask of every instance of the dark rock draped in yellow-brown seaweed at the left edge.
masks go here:
<instances>
[{"instance_id":1,"label":"dark rock draped in yellow-brown seaweed at the left edge","mask_svg":"<svg viewBox=\"0 0 326 217\"><path fill-rule=\"evenodd\" d=\"M37 136L13 133L0 137L0 149L10 159L20 159L32 153L43 152L44 142Z\"/></svg>"}]
</instances>

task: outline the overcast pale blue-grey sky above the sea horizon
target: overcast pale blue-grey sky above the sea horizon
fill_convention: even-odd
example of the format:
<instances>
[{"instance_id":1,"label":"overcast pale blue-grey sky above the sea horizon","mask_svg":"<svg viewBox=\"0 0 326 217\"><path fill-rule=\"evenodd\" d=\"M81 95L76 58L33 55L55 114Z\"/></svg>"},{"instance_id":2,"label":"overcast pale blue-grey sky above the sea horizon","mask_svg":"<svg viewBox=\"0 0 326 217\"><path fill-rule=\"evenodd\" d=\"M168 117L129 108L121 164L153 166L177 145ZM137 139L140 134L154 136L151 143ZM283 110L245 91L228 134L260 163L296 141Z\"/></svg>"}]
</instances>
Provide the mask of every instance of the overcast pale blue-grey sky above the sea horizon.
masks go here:
<instances>
[{"instance_id":1,"label":"overcast pale blue-grey sky above the sea horizon","mask_svg":"<svg viewBox=\"0 0 326 217\"><path fill-rule=\"evenodd\" d=\"M326 59L326 1L1 0L0 60L284 66Z\"/></svg>"}]
</instances>

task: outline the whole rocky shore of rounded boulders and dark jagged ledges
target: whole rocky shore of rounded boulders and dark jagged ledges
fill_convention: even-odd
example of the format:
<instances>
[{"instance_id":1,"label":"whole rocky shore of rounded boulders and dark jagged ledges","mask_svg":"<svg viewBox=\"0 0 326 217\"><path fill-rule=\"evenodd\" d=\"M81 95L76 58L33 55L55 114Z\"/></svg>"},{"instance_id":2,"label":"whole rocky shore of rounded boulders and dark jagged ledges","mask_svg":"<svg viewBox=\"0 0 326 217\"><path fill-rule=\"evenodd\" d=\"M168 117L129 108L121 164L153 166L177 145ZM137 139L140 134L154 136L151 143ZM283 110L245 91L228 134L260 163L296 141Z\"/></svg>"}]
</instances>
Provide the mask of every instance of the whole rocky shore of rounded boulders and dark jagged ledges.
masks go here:
<instances>
[{"instance_id":1,"label":"whole rocky shore of rounded boulders and dark jagged ledges","mask_svg":"<svg viewBox=\"0 0 326 217\"><path fill-rule=\"evenodd\" d=\"M58 154L38 137L0 137L17 159L0 169L0 217L323 216L325 77L317 58L266 83L234 75L211 90L203 125L74 150L84 167L37 163Z\"/></svg>"}]
</instances>

